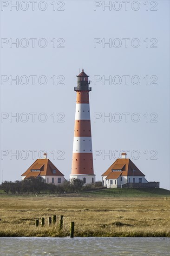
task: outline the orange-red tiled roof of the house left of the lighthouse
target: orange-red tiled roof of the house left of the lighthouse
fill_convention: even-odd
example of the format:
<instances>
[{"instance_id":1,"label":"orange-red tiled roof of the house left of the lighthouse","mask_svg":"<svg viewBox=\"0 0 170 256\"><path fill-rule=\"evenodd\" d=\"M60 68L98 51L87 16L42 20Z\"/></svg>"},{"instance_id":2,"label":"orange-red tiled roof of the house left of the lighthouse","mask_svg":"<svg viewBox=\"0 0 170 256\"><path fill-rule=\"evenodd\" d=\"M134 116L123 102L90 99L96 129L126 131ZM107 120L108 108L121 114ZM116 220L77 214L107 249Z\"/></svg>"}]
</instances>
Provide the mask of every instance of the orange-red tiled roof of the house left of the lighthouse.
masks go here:
<instances>
[{"instance_id":1,"label":"orange-red tiled roof of the house left of the lighthouse","mask_svg":"<svg viewBox=\"0 0 170 256\"><path fill-rule=\"evenodd\" d=\"M40 170L40 172L31 172L31 170ZM52 173L56 170L56 173ZM28 176L29 175L29 176ZM37 159L21 176L64 176L49 159Z\"/></svg>"}]
</instances>

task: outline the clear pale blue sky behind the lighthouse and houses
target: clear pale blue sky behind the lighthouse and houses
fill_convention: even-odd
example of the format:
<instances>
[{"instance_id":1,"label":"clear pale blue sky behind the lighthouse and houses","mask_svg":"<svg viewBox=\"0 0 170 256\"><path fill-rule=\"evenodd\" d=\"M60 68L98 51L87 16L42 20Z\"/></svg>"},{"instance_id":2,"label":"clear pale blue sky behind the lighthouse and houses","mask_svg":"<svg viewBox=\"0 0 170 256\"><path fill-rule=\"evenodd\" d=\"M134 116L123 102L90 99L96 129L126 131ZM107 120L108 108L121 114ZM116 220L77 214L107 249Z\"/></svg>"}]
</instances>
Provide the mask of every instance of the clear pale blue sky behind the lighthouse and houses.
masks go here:
<instances>
[{"instance_id":1,"label":"clear pale blue sky behind the lighthouse and houses","mask_svg":"<svg viewBox=\"0 0 170 256\"><path fill-rule=\"evenodd\" d=\"M84 67L96 181L129 150L148 181L169 189L170 2L0 3L1 182L20 180L43 150L69 179Z\"/></svg>"}]
</instances>

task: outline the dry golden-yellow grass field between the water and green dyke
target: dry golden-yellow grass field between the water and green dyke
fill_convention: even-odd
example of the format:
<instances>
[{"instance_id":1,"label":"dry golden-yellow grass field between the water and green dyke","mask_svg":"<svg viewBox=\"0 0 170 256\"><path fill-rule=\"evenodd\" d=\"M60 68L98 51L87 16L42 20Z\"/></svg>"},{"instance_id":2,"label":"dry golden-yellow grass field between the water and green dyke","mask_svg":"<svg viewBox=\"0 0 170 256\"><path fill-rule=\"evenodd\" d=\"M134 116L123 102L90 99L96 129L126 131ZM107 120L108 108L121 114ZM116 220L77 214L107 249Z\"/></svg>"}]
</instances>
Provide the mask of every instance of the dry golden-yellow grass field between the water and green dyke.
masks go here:
<instances>
[{"instance_id":1,"label":"dry golden-yellow grass field between the water and green dyke","mask_svg":"<svg viewBox=\"0 0 170 256\"><path fill-rule=\"evenodd\" d=\"M48 226L53 215L57 222ZM45 226L36 227L41 217ZM74 221L75 236L170 237L170 197L3 196L0 219L0 236L68 236Z\"/></svg>"}]
</instances>

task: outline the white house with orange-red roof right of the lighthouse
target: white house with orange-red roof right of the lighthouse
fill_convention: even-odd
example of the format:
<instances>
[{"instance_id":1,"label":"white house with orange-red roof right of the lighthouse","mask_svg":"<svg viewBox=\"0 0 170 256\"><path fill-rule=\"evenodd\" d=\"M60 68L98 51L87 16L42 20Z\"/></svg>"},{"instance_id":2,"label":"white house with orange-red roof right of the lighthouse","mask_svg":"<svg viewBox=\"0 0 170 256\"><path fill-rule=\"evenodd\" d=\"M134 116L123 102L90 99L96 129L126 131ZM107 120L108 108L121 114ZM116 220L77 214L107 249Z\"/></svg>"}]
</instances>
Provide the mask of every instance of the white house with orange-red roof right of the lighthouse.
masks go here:
<instances>
[{"instance_id":1,"label":"white house with orange-red roof right of the lighthouse","mask_svg":"<svg viewBox=\"0 0 170 256\"><path fill-rule=\"evenodd\" d=\"M122 153L122 158L118 158L102 175L102 184L107 188L122 188L127 183L153 182L148 182L137 166L126 158L126 153Z\"/></svg>"}]
</instances>

